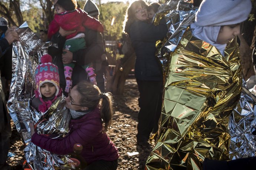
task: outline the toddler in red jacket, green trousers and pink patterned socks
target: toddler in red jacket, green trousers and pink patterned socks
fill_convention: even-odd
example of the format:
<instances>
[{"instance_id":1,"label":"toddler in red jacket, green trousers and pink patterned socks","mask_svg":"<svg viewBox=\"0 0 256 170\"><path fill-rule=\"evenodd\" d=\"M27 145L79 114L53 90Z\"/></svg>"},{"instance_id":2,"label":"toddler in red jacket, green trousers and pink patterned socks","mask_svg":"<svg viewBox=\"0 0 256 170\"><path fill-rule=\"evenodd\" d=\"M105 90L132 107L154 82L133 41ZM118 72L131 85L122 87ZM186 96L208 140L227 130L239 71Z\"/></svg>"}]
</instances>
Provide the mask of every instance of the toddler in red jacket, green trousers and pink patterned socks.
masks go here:
<instances>
[{"instance_id":1,"label":"toddler in red jacket, green trousers and pink patterned socks","mask_svg":"<svg viewBox=\"0 0 256 170\"><path fill-rule=\"evenodd\" d=\"M85 28L96 30L100 33L104 30L102 24L98 20L88 16L82 9L77 8L76 0L58 0L54 7L57 14L55 14L53 21L49 25L48 39L50 40L52 36L59 31L60 27L64 30L75 30L74 33L65 37L66 42L64 48L66 50L75 52L86 48L84 39ZM69 92L69 89L72 88L71 77L75 63L71 62L63 65L66 79L65 92ZM92 63L82 65L82 67L87 72L90 81L97 85Z\"/></svg>"}]
</instances>

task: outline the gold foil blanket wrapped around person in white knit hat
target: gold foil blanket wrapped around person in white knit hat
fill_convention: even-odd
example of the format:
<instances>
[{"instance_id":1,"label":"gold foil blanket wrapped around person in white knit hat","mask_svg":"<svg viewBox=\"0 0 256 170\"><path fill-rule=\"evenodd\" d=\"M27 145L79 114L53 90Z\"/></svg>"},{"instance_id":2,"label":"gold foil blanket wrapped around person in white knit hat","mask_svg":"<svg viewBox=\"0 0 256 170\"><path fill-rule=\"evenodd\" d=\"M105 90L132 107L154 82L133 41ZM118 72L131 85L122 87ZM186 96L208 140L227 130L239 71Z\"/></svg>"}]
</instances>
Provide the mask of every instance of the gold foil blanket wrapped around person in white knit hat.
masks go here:
<instances>
[{"instance_id":1,"label":"gold foil blanket wrapped around person in white knit hat","mask_svg":"<svg viewBox=\"0 0 256 170\"><path fill-rule=\"evenodd\" d=\"M187 22L177 20L180 33L174 32L161 51L167 73L158 142L148 157L148 170L199 170L204 158L229 160L229 117L242 90L239 49L235 38L223 57L193 37L187 27L193 23L193 8L190 14Z\"/></svg>"}]
</instances>

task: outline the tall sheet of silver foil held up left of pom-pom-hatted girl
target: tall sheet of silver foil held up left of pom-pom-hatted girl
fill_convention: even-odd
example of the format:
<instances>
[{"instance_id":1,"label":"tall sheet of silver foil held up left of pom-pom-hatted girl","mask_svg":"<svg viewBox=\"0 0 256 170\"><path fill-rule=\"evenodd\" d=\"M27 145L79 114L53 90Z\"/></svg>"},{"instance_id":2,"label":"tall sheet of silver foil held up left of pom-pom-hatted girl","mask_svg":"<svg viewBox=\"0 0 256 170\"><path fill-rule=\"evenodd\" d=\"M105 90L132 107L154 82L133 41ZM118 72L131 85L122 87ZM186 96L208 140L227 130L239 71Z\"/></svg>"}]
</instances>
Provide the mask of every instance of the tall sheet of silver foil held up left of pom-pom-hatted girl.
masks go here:
<instances>
[{"instance_id":1,"label":"tall sheet of silver foil held up left of pom-pom-hatted girl","mask_svg":"<svg viewBox=\"0 0 256 170\"><path fill-rule=\"evenodd\" d=\"M13 43L13 74L7 107L17 131L23 141L27 143L31 138L28 101L34 95L36 67L41 56L47 53L47 49L43 48L43 41L37 37L26 22L17 29L17 32L20 41Z\"/></svg>"}]
</instances>

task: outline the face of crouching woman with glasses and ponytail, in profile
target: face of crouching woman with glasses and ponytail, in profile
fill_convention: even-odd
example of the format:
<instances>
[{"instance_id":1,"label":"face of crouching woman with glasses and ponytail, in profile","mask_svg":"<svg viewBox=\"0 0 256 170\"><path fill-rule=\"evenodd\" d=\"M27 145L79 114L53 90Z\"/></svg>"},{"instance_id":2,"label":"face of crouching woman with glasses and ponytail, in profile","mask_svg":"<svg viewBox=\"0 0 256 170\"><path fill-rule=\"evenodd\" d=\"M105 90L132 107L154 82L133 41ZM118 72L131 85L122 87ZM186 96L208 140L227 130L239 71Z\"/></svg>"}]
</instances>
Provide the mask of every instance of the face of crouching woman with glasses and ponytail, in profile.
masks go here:
<instances>
[{"instance_id":1,"label":"face of crouching woman with glasses and ponytail, in profile","mask_svg":"<svg viewBox=\"0 0 256 170\"><path fill-rule=\"evenodd\" d=\"M65 99L66 107L72 110L83 110L83 106L80 104L81 95L76 90L76 86L69 90L69 95Z\"/></svg>"}]
</instances>

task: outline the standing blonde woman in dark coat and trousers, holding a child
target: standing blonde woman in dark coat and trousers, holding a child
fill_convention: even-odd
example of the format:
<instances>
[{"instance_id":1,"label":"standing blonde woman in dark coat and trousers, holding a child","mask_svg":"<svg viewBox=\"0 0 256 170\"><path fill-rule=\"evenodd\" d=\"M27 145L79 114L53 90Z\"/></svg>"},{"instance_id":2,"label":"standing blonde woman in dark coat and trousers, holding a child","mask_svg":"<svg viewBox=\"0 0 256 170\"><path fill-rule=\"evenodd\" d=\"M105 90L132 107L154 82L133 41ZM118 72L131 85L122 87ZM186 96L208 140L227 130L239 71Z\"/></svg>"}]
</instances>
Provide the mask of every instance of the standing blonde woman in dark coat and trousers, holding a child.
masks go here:
<instances>
[{"instance_id":1,"label":"standing blonde woman in dark coat and trousers, holding a child","mask_svg":"<svg viewBox=\"0 0 256 170\"><path fill-rule=\"evenodd\" d=\"M148 23L148 5L143 0L134 1L127 9L124 31L131 38L135 50L135 77L140 92L138 99L137 145L148 146L148 139L161 114L163 94L163 73L160 62L155 56L155 43L167 34L167 25L162 19L155 26Z\"/></svg>"}]
</instances>

